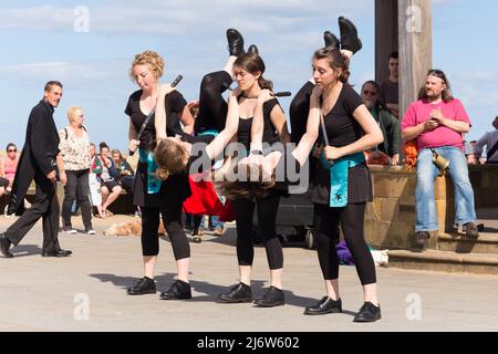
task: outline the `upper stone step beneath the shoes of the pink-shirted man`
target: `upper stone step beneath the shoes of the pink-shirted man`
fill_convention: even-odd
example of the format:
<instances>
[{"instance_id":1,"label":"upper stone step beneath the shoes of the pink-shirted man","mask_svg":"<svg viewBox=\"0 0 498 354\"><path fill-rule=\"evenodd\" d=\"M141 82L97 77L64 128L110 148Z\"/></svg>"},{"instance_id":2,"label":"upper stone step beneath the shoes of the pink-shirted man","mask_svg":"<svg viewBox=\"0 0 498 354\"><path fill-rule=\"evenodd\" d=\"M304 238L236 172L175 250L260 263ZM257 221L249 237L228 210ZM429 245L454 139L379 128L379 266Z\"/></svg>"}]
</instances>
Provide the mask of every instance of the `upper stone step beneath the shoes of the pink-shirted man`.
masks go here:
<instances>
[{"instance_id":1,"label":"upper stone step beneath the shoes of the pink-shirted man","mask_svg":"<svg viewBox=\"0 0 498 354\"><path fill-rule=\"evenodd\" d=\"M440 235L437 238L439 251L456 253L492 253L498 254L498 236L496 233L480 232L475 240L466 239L461 235Z\"/></svg>"}]
</instances>

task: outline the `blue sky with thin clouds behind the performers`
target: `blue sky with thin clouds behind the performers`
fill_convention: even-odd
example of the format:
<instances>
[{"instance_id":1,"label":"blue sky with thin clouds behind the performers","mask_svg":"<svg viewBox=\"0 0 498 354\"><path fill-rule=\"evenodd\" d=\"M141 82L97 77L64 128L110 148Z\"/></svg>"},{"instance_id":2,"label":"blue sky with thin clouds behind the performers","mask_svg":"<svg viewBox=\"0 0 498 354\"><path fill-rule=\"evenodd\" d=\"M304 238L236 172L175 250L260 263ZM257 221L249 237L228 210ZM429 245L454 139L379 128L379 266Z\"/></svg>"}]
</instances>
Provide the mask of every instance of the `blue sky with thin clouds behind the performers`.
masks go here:
<instances>
[{"instance_id":1,"label":"blue sky with thin clouds behind the performers","mask_svg":"<svg viewBox=\"0 0 498 354\"><path fill-rule=\"evenodd\" d=\"M87 32L76 32L90 12ZM498 115L498 2L433 1L433 63L444 70L473 124L477 139ZM166 60L164 82L184 75L178 90L196 100L205 73L227 59L225 31L237 28L256 43L276 90L295 93L310 77L310 58L324 30L339 32L336 18L352 19L364 48L355 55L351 82L374 79L374 1L371 0L156 0L0 1L0 148L23 144L25 123L49 80L64 84L55 112L60 128L71 105L82 106L91 139L124 149L128 121L123 111L136 86L127 72L146 49ZM483 29L479 29L481 25ZM282 98L287 110L290 98Z\"/></svg>"}]
</instances>

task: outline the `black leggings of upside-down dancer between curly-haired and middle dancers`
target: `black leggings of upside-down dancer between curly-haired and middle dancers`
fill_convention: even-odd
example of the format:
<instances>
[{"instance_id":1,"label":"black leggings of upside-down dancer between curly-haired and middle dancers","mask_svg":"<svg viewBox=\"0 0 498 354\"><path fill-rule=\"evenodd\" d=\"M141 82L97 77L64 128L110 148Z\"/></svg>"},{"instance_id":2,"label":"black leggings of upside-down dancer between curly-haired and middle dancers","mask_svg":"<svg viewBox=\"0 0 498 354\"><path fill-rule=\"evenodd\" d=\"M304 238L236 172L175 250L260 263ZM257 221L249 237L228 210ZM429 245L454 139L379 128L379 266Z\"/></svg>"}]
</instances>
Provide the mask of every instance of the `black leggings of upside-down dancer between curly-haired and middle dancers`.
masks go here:
<instances>
[{"instance_id":1,"label":"black leggings of upside-down dancer between curly-haired and middle dancers","mask_svg":"<svg viewBox=\"0 0 498 354\"><path fill-rule=\"evenodd\" d=\"M232 82L226 71L217 71L203 77L199 93L199 114L195 122L195 132L208 129L221 132L227 121L228 104L221 95Z\"/></svg>"}]
</instances>

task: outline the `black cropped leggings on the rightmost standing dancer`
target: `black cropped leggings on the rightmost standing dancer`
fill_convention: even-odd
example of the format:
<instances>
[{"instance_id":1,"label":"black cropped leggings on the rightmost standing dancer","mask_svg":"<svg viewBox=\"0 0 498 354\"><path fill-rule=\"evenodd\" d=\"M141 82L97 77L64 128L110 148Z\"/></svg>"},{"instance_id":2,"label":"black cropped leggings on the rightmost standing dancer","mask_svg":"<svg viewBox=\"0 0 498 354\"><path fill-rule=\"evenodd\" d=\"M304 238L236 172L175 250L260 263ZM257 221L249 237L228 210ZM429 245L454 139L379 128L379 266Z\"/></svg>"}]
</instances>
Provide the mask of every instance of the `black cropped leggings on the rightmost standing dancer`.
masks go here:
<instances>
[{"instance_id":1,"label":"black cropped leggings on the rightmost standing dancer","mask_svg":"<svg viewBox=\"0 0 498 354\"><path fill-rule=\"evenodd\" d=\"M363 235L365 204L350 204L345 208L329 208L314 205L318 254L323 279L339 278L339 259L335 251L338 226L341 222L342 233L356 264L356 272L362 285L376 283L375 264Z\"/></svg>"}]
</instances>

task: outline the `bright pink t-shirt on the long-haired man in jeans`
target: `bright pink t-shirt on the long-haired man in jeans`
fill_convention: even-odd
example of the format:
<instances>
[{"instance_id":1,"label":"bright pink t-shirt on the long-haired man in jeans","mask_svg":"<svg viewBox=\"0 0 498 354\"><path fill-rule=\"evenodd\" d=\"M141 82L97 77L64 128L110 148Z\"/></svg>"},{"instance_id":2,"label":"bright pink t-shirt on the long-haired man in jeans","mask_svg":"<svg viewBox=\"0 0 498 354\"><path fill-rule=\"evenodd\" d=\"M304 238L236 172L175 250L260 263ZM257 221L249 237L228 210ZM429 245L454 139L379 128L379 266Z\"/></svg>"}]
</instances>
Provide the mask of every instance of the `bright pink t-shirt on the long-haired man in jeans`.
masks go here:
<instances>
[{"instance_id":1,"label":"bright pink t-shirt on the long-haired man in jeans","mask_svg":"<svg viewBox=\"0 0 498 354\"><path fill-rule=\"evenodd\" d=\"M465 112L461 102L457 98L454 98L448 103L442 101L436 104L419 100L408 106L408 110L403 117L402 129L416 126L430 119L430 112L433 110L440 110L445 118L470 124L467 112ZM418 149L440 146L455 146L464 149L461 134L443 125L432 132L424 132L418 135L417 146Z\"/></svg>"}]
</instances>

